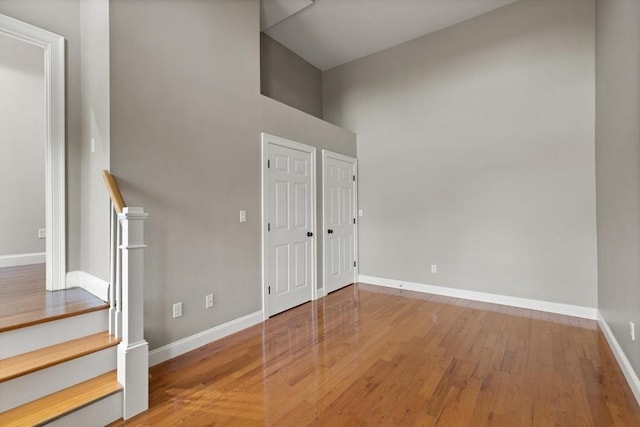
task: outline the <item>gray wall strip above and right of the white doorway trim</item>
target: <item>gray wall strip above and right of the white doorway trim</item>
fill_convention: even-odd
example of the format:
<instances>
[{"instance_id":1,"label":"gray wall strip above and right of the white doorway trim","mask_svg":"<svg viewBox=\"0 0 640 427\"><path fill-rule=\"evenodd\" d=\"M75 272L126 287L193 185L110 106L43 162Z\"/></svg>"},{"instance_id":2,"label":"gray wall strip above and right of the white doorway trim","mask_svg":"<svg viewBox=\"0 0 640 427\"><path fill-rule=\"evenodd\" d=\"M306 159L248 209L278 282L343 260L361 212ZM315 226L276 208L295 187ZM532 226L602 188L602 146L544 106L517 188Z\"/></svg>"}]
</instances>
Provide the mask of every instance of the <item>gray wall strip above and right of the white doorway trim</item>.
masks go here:
<instances>
[{"instance_id":1,"label":"gray wall strip above and right of the white doorway trim","mask_svg":"<svg viewBox=\"0 0 640 427\"><path fill-rule=\"evenodd\" d=\"M0 13L66 39L67 270L80 268L80 2L2 0Z\"/></svg>"}]
</instances>

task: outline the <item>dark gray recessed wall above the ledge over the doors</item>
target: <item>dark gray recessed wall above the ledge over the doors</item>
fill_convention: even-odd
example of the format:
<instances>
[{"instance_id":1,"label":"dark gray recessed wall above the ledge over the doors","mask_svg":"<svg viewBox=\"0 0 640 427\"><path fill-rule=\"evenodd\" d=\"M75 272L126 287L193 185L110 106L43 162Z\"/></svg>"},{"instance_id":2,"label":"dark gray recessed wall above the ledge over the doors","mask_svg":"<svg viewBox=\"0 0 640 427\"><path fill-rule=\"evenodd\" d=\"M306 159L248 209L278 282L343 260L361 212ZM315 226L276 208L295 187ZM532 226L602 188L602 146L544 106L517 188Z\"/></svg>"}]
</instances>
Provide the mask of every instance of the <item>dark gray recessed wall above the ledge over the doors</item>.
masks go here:
<instances>
[{"instance_id":1,"label":"dark gray recessed wall above the ledge over the doors","mask_svg":"<svg viewBox=\"0 0 640 427\"><path fill-rule=\"evenodd\" d=\"M322 71L264 33L260 79L263 95L322 118Z\"/></svg>"}]
</instances>

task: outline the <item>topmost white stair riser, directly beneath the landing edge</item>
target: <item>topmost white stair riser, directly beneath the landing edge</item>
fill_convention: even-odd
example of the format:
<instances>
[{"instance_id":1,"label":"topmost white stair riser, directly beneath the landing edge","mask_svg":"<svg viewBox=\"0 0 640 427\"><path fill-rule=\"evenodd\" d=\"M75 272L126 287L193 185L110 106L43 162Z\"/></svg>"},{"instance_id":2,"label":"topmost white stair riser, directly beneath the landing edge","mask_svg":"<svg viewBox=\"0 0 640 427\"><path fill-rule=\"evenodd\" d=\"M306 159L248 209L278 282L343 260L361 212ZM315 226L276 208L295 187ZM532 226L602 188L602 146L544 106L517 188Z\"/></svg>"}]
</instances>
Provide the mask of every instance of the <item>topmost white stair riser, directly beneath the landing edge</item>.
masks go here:
<instances>
[{"instance_id":1,"label":"topmost white stair riser, directly beneath the landing edge","mask_svg":"<svg viewBox=\"0 0 640 427\"><path fill-rule=\"evenodd\" d=\"M0 359L109 329L108 310L93 311L0 333Z\"/></svg>"}]
</instances>

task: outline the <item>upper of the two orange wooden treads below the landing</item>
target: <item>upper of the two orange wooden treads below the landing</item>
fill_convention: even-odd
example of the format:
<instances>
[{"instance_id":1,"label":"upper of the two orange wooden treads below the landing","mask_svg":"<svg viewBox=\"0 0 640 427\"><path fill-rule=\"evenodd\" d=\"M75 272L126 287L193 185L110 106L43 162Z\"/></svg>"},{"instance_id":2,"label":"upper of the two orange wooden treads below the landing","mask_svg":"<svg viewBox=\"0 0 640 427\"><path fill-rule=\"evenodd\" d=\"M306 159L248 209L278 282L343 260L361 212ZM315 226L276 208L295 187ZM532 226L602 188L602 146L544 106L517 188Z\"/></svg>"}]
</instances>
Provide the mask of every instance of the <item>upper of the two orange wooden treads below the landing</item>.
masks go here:
<instances>
[{"instance_id":1,"label":"upper of the two orange wooden treads below the landing","mask_svg":"<svg viewBox=\"0 0 640 427\"><path fill-rule=\"evenodd\" d=\"M118 345L121 340L99 332L0 360L0 382Z\"/></svg>"}]
</instances>

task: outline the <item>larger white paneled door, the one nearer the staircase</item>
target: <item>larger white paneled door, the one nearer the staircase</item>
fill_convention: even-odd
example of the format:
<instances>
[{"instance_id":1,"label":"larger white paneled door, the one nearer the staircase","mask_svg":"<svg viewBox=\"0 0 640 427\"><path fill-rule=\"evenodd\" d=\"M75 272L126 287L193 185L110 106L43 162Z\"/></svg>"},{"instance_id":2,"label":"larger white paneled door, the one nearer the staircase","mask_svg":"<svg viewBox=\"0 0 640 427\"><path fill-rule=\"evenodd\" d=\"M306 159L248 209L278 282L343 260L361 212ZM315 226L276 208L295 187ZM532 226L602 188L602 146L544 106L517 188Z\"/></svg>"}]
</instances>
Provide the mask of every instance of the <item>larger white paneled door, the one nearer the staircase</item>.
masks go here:
<instances>
[{"instance_id":1,"label":"larger white paneled door, the one nearer the staircase","mask_svg":"<svg viewBox=\"0 0 640 427\"><path fill-rule=\"evenodd\" d=\"M309 151L267 144L266 243L268 315L310 301L313 281L312 160ZM268 291L269 292L269 291Z\"/></svg>"}]
</instances>

